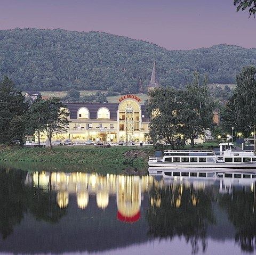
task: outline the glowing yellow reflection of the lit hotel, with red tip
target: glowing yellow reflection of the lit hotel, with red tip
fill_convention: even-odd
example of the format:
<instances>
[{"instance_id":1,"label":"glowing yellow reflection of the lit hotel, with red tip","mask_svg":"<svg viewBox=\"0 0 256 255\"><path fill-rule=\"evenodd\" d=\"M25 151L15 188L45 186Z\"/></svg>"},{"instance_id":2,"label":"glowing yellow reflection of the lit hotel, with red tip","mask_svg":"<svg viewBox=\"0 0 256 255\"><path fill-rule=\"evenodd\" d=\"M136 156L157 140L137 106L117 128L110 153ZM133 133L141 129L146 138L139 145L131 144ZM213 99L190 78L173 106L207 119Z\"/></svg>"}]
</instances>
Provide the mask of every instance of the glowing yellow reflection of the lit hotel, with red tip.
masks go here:
<instances>
[{"instance_id":1,"label":"glowing yellow reflection of the lit hotel, with red tip","mask_svg":"<svg viewBox=\"0 0 256 255\"><path fill-rule=\"evenodd\" d=\"M153 184L152 176L106 176L84 172L34 172L28 176L28 182L45 191L57 191L57 203L66 208L69 195L76 194L77 205L86 209L90 199L96 199L98 208L105 209L109 196L116 196L117 218L134 222L140 218L141 199Z\"/></svg>"}]
</instances>

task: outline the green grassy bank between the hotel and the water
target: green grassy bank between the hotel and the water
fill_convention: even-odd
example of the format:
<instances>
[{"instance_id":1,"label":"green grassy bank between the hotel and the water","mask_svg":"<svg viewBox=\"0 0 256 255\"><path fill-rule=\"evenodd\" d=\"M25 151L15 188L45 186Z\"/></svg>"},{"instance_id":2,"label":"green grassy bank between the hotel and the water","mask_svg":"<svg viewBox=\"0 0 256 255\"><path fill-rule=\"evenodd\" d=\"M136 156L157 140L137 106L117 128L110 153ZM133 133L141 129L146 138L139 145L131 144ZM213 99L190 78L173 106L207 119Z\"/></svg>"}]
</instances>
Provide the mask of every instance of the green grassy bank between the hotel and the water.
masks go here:
<instances>
[{"instance_id":1,"label":"green grassy bank between the hotel and the water","mask_svg":"<svg viewBox=\"0 0 256 255\"><path fill-rule=\"evenodd\" d=\"M127 151L140 151L138 158L125 157ZM54 146L49 148L11 147L0 150L0 160L26 162L54 162L82 164L88 168L121 166L147 167L148 156L154 155L152 148L135 148L116 146L111 148L95 148L94 146Z\"/></svg>"}]
</instances>

